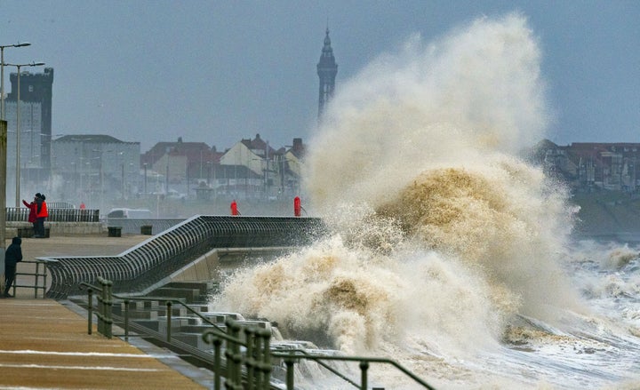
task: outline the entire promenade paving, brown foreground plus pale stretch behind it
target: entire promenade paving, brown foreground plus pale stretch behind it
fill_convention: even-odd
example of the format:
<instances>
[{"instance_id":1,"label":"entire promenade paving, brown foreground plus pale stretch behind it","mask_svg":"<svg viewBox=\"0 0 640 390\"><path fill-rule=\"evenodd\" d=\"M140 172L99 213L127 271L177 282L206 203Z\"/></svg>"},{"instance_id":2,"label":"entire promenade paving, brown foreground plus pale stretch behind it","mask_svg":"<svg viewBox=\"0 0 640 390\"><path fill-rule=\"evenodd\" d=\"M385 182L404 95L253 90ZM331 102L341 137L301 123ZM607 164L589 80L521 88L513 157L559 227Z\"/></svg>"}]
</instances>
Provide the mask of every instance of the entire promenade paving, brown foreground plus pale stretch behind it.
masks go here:
<instances>
[{"instance_id":1,"label":"entire promenade paving, brown foreground plus pale stretch behind it","mask_svg":"<svg viewBox=\"0 0 640 390\"><path fill-rule=\"evenodd\" d=\"M22 250L26 260L108 256L148 238L26 238ZM18 271L24 271L20 266ZM209 384L206 378L212 378L209 371L196 369L140 338L130 338L132 344L116 337L108 339L96 331L95 325L90 335L87 319L77 306L68 301L36 299L33 291L24 290L17 291L17 298L0 299L0 389L202 389Z\"/></svg>"}]
</instances>

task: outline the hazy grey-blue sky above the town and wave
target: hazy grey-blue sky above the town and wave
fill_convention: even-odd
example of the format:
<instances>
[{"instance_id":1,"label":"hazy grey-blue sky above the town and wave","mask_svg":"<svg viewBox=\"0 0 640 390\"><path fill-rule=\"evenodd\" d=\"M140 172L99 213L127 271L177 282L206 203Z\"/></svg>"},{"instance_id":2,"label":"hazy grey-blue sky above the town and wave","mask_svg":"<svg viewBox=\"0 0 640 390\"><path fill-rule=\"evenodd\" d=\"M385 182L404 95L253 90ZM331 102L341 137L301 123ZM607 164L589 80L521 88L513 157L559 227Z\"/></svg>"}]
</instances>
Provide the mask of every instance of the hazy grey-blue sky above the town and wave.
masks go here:
<instances>
[{"instance_id":1,"label":"hazy grey-blue sky above the town and wave","mask_svg":"<svg viewBox=\"0 0 640 390\"><path fill-rule=\"evenodd\" d=\"M327 20L340 83L409 36L522 12L540 39L549 139L640 142L640 1L0 0L4 61L54 68L53 134L307 141ZM5 91L10 91L5 68ZM41 69L32 68L41 72Z\"/></svg>"}]
</instances>

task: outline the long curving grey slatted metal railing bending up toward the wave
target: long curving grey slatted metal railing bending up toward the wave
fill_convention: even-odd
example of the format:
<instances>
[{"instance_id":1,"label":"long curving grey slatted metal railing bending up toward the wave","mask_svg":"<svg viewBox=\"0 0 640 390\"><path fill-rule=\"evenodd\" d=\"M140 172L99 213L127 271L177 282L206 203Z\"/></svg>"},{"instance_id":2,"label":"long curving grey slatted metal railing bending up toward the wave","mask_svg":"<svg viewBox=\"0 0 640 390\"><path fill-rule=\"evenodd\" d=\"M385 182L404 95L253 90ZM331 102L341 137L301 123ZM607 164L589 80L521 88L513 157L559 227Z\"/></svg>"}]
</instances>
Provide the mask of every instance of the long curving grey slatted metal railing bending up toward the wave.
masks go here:
<instances>
[{"instance_id":1,"label":"long curving grey slatted metal railing bending up toward the wave","mask_svg":"<svg viewBox=\"0 0 640 390\"><path fill-rule=\"evenodd\" d=\"M324 233L313 218L195 216L118 256L41 258L52 277L47 297L77 295L98 275L116 282L116 293L140 293L214 249L295 247Z\"/></svg>"}]
</instances>

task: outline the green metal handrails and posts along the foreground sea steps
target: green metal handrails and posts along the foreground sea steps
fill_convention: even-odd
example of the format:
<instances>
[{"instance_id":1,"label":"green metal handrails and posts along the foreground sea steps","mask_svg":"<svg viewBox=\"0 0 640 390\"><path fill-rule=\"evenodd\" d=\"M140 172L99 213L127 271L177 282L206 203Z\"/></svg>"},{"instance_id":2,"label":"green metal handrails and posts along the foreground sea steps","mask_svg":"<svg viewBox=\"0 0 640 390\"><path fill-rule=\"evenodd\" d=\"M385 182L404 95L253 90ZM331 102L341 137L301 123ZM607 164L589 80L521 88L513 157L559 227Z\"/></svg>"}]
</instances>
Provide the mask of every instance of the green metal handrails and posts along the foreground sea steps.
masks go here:
<instances>
[{"instance_id":1,"label":"green metal handrails and posts along the foreground sea steps","mask_svg":"<svg viewBox=\"0 0 640 390\"><path fill-rule=\"evenodd\" d=\"M89 309L89 322L88 332L92 334L92 310L93 310L93 291L98 292L98 318L97 329L100 334L107 338L113 337L112 326L114 318L112 317L112 306L116 299L122 300L125 303L125 307L128 307L130 300L143 300L152 299L166 300L167 305L167 317L166 317L166 338L167 342L171 343L171 322L172 322L172 303L181 304L188 308L193 314L200 316L202 320L212 325L210 329L204 330L202 339L207 344L212 344L212 370L213 370L213 388L220 390L222 387L222 378L224 378L224 386L228 389L253 389L253 390L270 390L273 388L271 385L271 372L273 370L272 362L274 359L284 362L286 366L286 389L294 390L295 387L295 364L301 361L313 361L321 364L324 368L328 369L332 374L346 380L350 385L355 386L361 390L369 389L369 369L372 363L388 364L399 370L404 376L411 378L417 385L426 388L428 390L434 390L434 387L429 386L427 382L413 374L410 370L407 370L396 361L387 358L377 358L368 356L346 356L346 355L327 355L327 354L309 354L305 350L289 350L287 352L278 352L271 350L270 339L271 331L261 329L255 325L241 324L231 318L227 318L224 328L213 324L204 316L196 313L193 309L185 305L179 299L173 298L131 298L120 297L113 294L113 283L100 276L97 278L100 283L100 287L93 286L88 283L82 283L83 287L88 290L88 309ZM125 339L128 335L128 315L125 314L124 320ZM222 353L224 351L224 361L222 359ZM347 378L343 373L338 370L332 369L325 361L337 361L337 362L357 362L360 370L359 384L355 380ZM279 387L278 388L282 388ZM376 387L373 387L374 389Z\"/></svg>"}]
</instances>

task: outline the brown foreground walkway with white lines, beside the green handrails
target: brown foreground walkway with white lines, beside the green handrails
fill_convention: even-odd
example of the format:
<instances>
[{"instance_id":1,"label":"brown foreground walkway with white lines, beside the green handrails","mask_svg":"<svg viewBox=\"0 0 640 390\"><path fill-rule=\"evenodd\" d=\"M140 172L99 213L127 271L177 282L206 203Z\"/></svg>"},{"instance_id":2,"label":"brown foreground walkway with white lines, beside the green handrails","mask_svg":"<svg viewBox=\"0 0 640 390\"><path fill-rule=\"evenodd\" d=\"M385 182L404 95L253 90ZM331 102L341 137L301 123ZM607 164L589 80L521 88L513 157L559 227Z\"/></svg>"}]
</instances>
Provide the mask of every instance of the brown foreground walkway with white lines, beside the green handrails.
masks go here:
<instances>
[{"instance_id":1,"label":"brown foreground walkway with white lines, beside the green handrails","mask_svg":"<svg viewBox=\"0 0 640 390\"><path fill-rule=\"evenodd\" d=\"M172 368L186 364L179 357L155 351L88 334L87 320L58 301L0 299L0 388L206 388Z\"/></svg>"}]
</instances>

